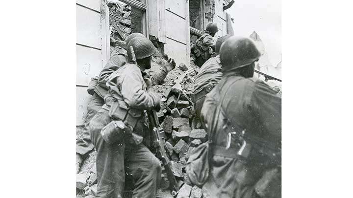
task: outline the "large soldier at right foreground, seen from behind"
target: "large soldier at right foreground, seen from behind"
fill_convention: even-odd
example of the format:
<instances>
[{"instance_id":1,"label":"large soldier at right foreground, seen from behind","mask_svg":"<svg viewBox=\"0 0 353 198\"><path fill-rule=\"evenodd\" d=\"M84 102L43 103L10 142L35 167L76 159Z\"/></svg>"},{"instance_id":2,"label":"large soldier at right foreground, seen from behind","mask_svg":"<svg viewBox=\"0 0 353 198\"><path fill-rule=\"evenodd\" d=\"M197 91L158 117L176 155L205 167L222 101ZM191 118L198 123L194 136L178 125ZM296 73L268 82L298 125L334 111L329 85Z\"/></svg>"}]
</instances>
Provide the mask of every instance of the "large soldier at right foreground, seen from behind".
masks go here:
<instances>
[{"instance_id":1,"label":"large soldier at right foreground, seen from behind","mask_svg":"<svg viewBox=\"0 0 353 198\"><path fill-rule=\"evenodd\" d=\"M223 77L201 110L211 155L203 185L209 197L281 196L281 98L252 79L259 57L248 38L230 37L221 46Z\"/></svg>"}]
</instances>

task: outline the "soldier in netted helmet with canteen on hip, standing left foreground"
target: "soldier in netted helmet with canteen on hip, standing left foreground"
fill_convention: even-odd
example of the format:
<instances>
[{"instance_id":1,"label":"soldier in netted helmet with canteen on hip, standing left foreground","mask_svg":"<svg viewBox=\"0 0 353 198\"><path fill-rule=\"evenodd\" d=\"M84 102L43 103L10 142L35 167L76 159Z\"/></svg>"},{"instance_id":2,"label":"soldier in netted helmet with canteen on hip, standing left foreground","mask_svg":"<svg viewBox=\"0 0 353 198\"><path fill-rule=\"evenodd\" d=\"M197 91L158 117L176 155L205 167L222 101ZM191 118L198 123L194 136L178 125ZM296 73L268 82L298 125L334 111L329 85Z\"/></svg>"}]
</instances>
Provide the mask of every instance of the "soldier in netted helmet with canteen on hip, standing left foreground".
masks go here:
<instances>
[{"instance_id":1,"label":"soldier in netted helmet with canteen on hip, standing left foreground","mask_svg":"<svg viewBox=\"0 0 353 198\"><path fill-rule=\"evenodd\" d=\"M133 177L135 183L133 198L154 198L161 176L159 160L143 143L133 144L130 136L122 135L118 142L108 144L101 135L101 130L112 120L122 120L133 128L134 133L146 137L148 128L144 110L160 109L159 97L147 91L142 76L142 72L151 68L151 56L156 49L150 40L142 37L129 42L128 54L130 45L135 51L137 65L131 63L129 55L130 63L111 74L104 98L106 103L89 124L91 140L97 150L96 198L122 197L125 172Z\"/></svg>"}]
</instances>

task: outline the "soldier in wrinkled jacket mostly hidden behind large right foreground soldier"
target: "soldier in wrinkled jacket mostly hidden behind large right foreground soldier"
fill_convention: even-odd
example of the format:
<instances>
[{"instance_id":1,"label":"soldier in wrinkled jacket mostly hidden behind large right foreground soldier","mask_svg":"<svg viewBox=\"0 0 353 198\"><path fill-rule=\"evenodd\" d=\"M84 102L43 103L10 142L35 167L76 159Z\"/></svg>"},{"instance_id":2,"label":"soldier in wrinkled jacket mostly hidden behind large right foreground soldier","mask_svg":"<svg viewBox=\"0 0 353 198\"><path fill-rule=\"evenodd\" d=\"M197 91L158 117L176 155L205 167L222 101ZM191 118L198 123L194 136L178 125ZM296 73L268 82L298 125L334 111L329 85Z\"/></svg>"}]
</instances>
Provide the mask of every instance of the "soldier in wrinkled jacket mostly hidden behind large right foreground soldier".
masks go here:
<instances>
[{"instance_id":1,"label":"soldier in wrinkled jacket mostly hidden behind large right foreground soldier","mask_svg":"<svg viewBox=\"0 0 353 198\"><path fill-rule=\"evenodd\" d=\"M222 68L221 61L219 59L219 50L224 41L226 41L230 35L225 35L220 37L215 45L216 57L212 57L208 59L200 68L198 75L195 79L194 84L194 104L195 104L195 113L196 117L193 122L194 128L197 127L200 122L200 112L202 108L202 104L204 101L205 95L217 85L217 83L222 78Z\"/></svg>"}]
</instances>

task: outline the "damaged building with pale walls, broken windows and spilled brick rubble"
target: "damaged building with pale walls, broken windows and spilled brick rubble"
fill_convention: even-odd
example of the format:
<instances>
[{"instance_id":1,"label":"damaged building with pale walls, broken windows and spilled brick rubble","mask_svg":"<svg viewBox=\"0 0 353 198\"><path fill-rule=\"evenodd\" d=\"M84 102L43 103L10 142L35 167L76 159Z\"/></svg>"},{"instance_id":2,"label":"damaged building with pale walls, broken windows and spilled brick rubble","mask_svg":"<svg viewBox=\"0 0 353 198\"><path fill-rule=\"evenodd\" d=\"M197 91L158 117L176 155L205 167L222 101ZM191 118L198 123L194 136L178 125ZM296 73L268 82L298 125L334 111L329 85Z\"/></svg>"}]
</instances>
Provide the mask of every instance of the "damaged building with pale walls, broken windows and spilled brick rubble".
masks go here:
<instances>
[{"instance_id":1,"label":"damaged building with pale walls, broken windows and spilled brick rubble","mask_svg":"<svg viewBox=\"0 0 353 198\"><path fill-rule=\"evenodd\" d=\"M202 197L185 173L189 154L207 141L204 130L191 126L193 82L199 67L190 65L190 43L209 22L217 23L217 38L233 35L231 17L225 12L233 0L76 0L76 139L80 138L87 103L87 87L115 53L126 52L125 39L133 32L150 38L158 52L149 73L158 71L163 55L175 59L162 85L152 89L161 98L157 116L166 133L166 147L180 191L178 197ZM96 152L85 156L76 181L77 197L93 197L97 190ZM126 186L128 186L126 184ZM157 197L169 198L168 179L162 173ZM128 189L126 197L128 197Z\"/></svg>"}]
</instances>

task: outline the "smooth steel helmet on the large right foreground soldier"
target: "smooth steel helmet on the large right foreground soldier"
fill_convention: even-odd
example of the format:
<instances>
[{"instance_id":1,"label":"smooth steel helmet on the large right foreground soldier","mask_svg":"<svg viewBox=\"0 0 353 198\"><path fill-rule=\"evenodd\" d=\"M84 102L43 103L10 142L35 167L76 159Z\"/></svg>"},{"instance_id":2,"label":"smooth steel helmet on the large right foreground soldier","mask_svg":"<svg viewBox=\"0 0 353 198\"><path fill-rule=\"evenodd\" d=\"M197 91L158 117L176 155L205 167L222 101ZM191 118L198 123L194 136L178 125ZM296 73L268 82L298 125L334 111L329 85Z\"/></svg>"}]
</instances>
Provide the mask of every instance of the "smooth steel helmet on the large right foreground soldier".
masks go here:
<instances>
[{"instance_id":1,"label":"smooth steel helmet on the large right foreground soldier","mask_svg":"<svg viewBox=\"0 0 353 198\"><path fill-rule=\"evenodd\" d=\"M261 56L251 39L236 36L228 38L219 53L223 70L250 65Z\"/></svg>"}]
</instances>

